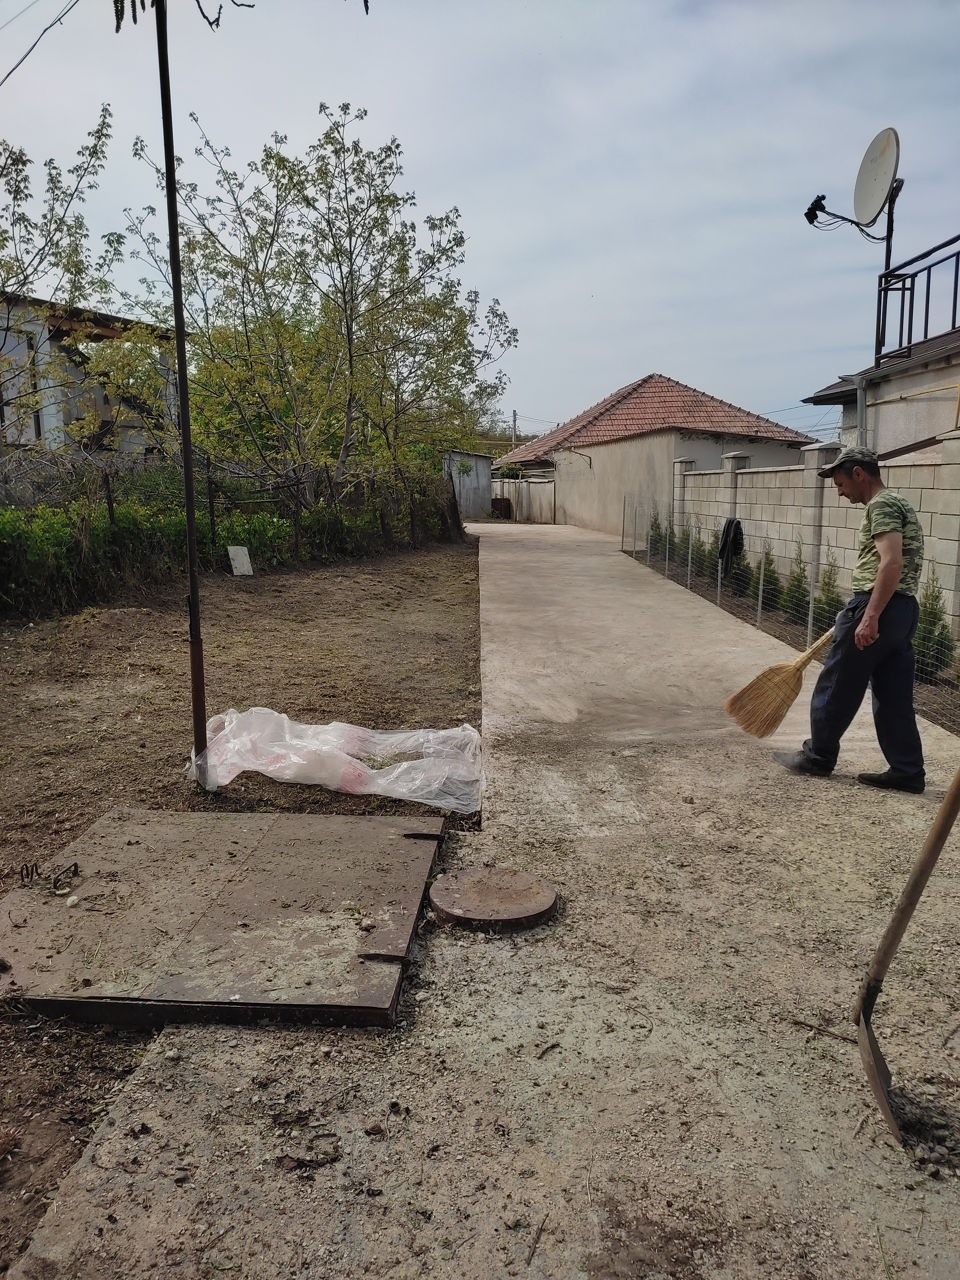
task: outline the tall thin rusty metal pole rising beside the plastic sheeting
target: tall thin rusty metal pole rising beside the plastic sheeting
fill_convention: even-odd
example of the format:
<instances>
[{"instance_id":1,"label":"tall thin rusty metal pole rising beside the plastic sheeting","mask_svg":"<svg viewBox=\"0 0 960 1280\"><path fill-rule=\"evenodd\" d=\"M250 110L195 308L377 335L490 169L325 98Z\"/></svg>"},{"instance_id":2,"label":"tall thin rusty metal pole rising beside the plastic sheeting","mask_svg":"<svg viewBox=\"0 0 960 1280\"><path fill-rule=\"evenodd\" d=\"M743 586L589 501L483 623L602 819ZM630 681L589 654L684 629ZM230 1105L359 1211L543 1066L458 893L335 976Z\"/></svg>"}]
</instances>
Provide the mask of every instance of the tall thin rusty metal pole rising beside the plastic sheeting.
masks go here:
<instances>
[{"instance_id":1,"label":"tall thin rusty metal pole rising beside the plastic sheeting","mask_svg":"<svg viewBox=\"0 0 960 1280\"><path fill-rule=\"evenodd\" d=\"M187 515L187 570L189 577L189 677L193 707L193 755L206 751L206 696L204 692L204 641L200 635L200 572L197 567L197 518L193 492L193 440L189 429L189 393L187 389L187 326L183 319L183 283L180 280L180 234L177 214L177 161L173 146L173 105L170 101L170 59L166 45L166 0L155 0L156 52L160 72L160 113L164 125L164 184L166 187L166 223L170 238L170 283L173 285L173 317L177 338L177 389L180 420L180 452L183 454L183 498ZM202 782L202 777L200 778Z\"/></svg>"}]
</instances>

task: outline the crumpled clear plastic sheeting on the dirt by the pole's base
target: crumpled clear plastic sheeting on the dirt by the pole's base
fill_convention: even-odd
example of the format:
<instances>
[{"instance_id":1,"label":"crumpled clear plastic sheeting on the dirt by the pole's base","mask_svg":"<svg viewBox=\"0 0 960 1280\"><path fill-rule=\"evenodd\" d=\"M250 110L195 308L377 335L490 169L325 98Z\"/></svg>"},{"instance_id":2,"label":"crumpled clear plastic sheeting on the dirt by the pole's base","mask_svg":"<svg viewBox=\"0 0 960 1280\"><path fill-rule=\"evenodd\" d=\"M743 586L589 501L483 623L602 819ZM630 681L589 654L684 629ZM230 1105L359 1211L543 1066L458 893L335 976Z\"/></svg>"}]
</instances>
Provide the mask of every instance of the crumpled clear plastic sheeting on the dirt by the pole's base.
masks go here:
<instances>
[{"instance_id":1,"label":"crumpled clear plastic sheeting on the dirt by the pole's base","mask_svg":"<svg viewBox=\"0 0 960 1280\"><path fill-rule=\"evenodd\" d=\"M398 732L298 724L266 707L214 716L206 751L191 760L187 777L216 791L247 769L278 782L415 800L456 813L480 808L480 735L470 724Z\"/></svg>"}]
</instances>

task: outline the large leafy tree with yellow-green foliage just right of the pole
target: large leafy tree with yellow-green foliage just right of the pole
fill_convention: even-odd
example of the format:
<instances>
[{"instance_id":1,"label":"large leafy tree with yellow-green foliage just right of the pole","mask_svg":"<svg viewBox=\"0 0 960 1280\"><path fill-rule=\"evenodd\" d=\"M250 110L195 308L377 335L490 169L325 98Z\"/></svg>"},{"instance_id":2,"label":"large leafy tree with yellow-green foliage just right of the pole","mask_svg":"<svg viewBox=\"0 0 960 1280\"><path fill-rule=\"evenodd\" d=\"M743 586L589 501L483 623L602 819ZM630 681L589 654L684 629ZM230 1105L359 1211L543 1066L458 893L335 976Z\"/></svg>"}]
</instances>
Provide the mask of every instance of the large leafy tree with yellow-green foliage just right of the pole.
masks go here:
<instances>
[{"instance_id":1,"label":"large leafy tree with yellow-green foliage just right of the pole","mask_svg":"<svg viewBox=\"0 0 960 1280\"><path fill-rule=\"evenodd\" d=\"M356 463L402 475L460 444L489 413L502 381L489 370L516 342L499 303L481 317L476 294L461 298L458 211L419 230L397 140L365 150L364 111L321 111L303 156L274 134L243 172L201 129L212 189L180 184L197 438L296 479L307 503L321 472L339 488ZM159 178L142 142L136 154ZM154 216L131 215L129 232L151 271L140 301L163 321Z\"/></svg>"}]
</instances>

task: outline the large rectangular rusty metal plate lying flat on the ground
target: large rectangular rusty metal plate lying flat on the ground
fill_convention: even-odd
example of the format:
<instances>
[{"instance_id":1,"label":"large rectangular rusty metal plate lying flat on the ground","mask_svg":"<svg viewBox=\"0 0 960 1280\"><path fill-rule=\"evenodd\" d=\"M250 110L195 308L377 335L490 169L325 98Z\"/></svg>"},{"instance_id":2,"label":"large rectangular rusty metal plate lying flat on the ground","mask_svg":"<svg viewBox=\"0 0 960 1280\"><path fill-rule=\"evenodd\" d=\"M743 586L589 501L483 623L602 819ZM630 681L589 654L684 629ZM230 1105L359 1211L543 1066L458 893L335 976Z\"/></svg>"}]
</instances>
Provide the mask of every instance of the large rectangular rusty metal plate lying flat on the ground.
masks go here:
<instances>
[{"instance_id":1,"label":"large rectangular rusty metal plate lying flat on the ground","mask_svg":"<svg viewBox=\"0 0 960 1280\"><path fill-rule=\"evenodd\" d=\"M8 893L0 998L123 1023L389 1025L442 826L115 809L59 879Z\"/></svg>"}]
</instances>

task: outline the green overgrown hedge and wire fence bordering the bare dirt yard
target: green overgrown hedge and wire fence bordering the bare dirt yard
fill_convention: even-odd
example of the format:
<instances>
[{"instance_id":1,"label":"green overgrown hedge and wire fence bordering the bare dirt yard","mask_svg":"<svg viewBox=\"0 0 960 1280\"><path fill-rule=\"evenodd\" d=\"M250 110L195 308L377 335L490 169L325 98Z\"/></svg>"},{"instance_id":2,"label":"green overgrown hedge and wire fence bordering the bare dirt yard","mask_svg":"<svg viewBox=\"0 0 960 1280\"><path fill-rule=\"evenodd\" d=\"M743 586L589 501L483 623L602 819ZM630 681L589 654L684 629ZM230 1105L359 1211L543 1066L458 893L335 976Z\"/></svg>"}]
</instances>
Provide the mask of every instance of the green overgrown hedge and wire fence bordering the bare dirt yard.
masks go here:
<instances>
[{"instance_id":1,"label":"green overgrown hedge and wire fence bordering the bare dirt yard","mask_svg":"<svg viewBox=\"0 0 960 1280\"><path fill-rule=\"evenodd\" d=\"M387 467L256 471L201 454L195 463L196 554L228 570L246 547L259 568L367 556L462 536L449 476ZM177 456L0 457L0 617L42 617L111 599L187 571Z\"/></svg>"}]
</instances>

